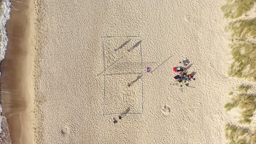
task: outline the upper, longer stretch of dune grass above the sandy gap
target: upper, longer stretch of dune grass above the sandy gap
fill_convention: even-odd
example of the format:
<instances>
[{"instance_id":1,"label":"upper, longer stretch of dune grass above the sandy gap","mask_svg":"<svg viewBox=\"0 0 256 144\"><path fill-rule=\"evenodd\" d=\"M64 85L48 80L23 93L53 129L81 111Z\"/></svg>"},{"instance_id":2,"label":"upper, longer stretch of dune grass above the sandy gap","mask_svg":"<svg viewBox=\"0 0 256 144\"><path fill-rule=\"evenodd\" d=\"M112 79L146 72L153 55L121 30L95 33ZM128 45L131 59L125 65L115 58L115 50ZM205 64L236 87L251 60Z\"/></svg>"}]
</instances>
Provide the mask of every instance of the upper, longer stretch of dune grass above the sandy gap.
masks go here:
<instances>
[{"instance_id":1,"label":"upper, longer stretch of dune grass above the sandy gap","mask_svg":"<svg viewBox=\"0 0 256 144\"><path fill-rule=\"evenodd\" d=\"M233 56L229 75L256 81L256 18L249 17L249 11L256 0L226 0L222 10L228 18L225 28L231 35L230 48Z\"/></svg>"}]
</instances>

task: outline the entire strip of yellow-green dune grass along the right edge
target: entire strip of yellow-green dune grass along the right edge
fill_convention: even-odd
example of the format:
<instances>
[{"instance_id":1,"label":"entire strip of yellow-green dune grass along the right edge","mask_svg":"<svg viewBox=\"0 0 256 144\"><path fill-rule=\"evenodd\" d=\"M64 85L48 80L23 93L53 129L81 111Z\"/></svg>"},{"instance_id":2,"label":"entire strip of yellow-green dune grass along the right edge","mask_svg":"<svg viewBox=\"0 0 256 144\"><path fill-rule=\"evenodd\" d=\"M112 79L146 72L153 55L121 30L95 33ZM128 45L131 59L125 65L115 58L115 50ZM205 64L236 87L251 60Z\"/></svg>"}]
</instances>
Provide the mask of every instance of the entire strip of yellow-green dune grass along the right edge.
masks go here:
<instances>
[{"instance_id":1,"label":"entire strip of yellow-green dune grass along the right edge","mask_svg":"<svg viewBox=\"0 0 256 144\"><path fill-rule=\"evenodd\" d=\"M225 30L230 34L232 63L229 68L229 76L240 77L256 81L256 18L250 16L250 11L256 4L256 0L226 0L222 10L224 17L230 22ZM252 11L251 11L252 12ZM252 13L255 13L254 11ZM256 94L248 93L250 85L240 85L235 92L229 92L231 102L224 107L226 111L237 107L241 117L238 123L226 124L225 133L229 143L256 143L256 128L251 127L253 113L256 109Z\"/></svg>"}]
</instances>

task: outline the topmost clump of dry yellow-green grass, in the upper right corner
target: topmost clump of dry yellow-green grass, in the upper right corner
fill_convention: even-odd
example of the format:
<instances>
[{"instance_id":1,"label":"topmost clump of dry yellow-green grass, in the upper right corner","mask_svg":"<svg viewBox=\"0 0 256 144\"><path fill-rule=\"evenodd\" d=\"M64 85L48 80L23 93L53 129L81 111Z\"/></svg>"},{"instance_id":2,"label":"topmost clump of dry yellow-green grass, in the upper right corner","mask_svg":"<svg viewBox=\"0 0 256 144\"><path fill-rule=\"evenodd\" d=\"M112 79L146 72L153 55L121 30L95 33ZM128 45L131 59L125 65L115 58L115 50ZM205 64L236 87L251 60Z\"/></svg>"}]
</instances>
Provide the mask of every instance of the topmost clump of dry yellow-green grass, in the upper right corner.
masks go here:
<instances>
[{"instance_id":1,"label":"topmost clump of dry yellow-green grass, in the upper right corner","mask_svg":"<svg viewBox=\"0 0 256 144\"><path fill-rule=\"evenodd\" d=\"M252 9L255 0L226 0L222 10L226 18L235 19L242 15L246 15Z\"/></svg>"}]
</instances>

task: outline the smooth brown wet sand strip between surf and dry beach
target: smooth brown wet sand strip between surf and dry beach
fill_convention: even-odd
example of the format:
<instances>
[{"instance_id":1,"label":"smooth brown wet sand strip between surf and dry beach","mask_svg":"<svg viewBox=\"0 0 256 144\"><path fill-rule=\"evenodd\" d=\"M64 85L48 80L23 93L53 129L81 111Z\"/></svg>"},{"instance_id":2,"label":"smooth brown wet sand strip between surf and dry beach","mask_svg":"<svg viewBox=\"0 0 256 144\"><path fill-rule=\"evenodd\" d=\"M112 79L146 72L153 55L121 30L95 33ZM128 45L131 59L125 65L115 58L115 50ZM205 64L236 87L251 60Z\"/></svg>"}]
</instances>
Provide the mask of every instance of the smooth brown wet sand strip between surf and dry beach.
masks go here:
<instances>
[{"instance_id":1,"label":"smooth brown wet sand strip between surf and dry beach","mask_svg":"<svg viewBox=\"0 0 256 144\"><path fill-rule=\"evenodd\" d=\"M33 142L33 2L11 3L7 21L8 46L1 63L3 116L7 117L11 143ZM31 25L32 24L32 25Z\"/></svg>"}]
</instances>

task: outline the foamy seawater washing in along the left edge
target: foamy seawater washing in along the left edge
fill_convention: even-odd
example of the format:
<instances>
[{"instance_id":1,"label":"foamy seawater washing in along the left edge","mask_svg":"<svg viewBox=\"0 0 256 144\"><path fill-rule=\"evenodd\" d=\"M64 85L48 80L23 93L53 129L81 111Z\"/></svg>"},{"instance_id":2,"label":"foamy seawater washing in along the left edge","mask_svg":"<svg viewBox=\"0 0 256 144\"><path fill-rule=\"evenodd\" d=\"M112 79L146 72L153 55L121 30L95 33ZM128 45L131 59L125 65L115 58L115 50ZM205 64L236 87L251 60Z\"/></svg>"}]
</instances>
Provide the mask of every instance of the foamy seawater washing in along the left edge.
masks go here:
<instances>
[{"instance_id":1,"label":"foamy seawater washing in along the left edge","mask_svg":"<svg viewBox=\"0 0 256 144\"><path fill-rule=\"evenodd\" d=\"M10 17L10 0L0 0L0 61L4 59L5 51L7 49L8 37L5 28L6 22ZM1 77L1 71L0 71ZM1 85L0 85L1 91ZM3 109L1 103L1 93L0 93L0 143L9 144L11 143L7 119L2 116Z\"/></svg>"}]
</instances>

